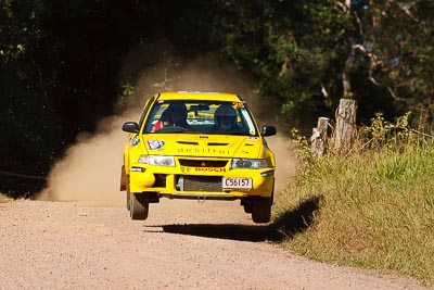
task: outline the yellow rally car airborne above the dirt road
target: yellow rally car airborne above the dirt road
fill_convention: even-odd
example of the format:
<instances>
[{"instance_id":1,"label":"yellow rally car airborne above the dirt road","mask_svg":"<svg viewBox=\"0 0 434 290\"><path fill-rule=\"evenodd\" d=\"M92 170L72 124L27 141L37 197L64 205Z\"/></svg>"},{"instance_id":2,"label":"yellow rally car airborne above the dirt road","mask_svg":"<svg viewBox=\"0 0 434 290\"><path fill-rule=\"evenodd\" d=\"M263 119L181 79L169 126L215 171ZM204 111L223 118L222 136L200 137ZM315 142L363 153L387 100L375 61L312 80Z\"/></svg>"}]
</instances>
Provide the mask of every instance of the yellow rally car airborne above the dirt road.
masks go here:
<instances>
[{"instance_id":1,"label":"yellow rally car airborne above the dirt road","mask_svg":"<svg viewBox=\"0 0 434 290\"><path fill-rule=\"evenodd\" d=\"M268 223L275 154L243 99L232 93L163 92L139 123L127 122L120 190L132 219L146 219L159 198L241 200L255 223Z\"/></svg>"}]
</instances>

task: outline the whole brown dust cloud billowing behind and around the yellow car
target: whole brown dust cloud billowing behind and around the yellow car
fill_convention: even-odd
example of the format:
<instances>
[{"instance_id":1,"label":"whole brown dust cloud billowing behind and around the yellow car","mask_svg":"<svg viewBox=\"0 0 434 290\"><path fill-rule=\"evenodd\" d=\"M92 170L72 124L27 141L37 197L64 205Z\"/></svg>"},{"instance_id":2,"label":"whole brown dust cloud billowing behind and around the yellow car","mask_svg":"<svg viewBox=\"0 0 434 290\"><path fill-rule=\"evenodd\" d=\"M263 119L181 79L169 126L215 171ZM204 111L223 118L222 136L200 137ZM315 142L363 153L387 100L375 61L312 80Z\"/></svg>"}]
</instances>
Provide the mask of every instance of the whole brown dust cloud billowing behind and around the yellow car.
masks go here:
<instances>
[{"instance_id":1,"label":"whole brown dust cloud billowing behind and around the yellow car","mask_svg":"<svg viewBox=\"0 0 434 290\"><path fill-rule=\"evenodd\" d=\"M212 54L189 62L177 60L175 54L166 41L131 50L124 60L120 79L133 81L136 93L127 101L119 100L120 113L102 119L94 135L77 137L75 144L52 167L48 186L37 199L76 201L89 206L125 206L126 193L119 191L119 180L127 134L122 131L122 124L137 121L146 98L158 91L235 92L248 102L255 114L267 110L260 103L260 96L253 92L248 76L234 66ZM266 124L261 119L258 123ZM276 153L279 190L294 173L296 160L284 131L267 138L267 142Z\"/></svg>"}]
</instances>

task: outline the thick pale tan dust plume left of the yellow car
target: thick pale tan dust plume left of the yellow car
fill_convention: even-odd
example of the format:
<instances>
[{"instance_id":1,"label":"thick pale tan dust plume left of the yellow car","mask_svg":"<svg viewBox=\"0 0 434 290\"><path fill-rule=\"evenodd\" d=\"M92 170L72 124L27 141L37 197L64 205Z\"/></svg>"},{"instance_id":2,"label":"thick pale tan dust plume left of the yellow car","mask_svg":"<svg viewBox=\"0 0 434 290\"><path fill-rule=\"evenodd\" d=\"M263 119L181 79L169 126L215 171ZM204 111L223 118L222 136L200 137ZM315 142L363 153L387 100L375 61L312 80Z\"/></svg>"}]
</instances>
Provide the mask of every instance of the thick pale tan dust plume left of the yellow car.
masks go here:
<instances>
[{"instance_id":1,"label":"thick pale tan dust plume left of the yellow car","mask_svg":"<svg viewBox=\"0 0 434 290\"><path fill-rule=\"evenodd\" d=\"M86 205L120 206L119 191L123 146L123 116L102 122L93 136L80 135L49 174L48 187L40 200L77 201Z\"/></svg>"}]
</instances>

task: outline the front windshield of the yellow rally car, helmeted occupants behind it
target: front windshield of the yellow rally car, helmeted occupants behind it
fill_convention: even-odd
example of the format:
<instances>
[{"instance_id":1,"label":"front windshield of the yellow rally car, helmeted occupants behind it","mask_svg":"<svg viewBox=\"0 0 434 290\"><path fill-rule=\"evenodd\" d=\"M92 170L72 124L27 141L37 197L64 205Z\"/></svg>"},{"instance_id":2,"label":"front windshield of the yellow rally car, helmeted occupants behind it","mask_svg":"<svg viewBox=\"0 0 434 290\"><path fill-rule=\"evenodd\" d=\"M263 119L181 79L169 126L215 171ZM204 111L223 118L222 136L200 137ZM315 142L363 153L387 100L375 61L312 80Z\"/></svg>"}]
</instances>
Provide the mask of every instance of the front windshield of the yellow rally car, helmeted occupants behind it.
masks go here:
<instances>
[{"instance_id":1,"label":"front windshield of the yellow rally car, helmeted occupants behind it","mask_svg":"<svg viewBox=\"0 0 434 290\"><path fill-rule=\"evenodd\" d=\"M143 134L192 133L257 136L244 102L157 101Z\"/></svg>"}]
</instances>

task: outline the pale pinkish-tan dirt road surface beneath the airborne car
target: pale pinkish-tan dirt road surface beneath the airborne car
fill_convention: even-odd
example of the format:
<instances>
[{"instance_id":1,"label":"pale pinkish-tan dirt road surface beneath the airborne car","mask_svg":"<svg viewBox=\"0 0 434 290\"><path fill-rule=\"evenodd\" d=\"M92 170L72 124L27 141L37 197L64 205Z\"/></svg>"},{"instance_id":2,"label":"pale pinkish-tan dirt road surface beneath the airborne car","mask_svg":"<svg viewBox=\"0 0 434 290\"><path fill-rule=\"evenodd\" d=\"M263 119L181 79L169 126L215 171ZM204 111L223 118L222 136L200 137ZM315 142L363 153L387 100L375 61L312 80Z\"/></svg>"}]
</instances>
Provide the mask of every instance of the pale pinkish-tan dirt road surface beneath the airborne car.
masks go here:
<instances>
[{"instance_id":1,"label":"pale pinkish-tan dirt road surface beneath the airborne car","mask_svg":"<svg viewBox=\"0 0 434 290\"><path fill-rule=\"evenodd\" d=\"M75 202L0 203L0 289L423 289L308 261L237 202L163 200L148 220Z\"/></svg>"}]
</instances>

